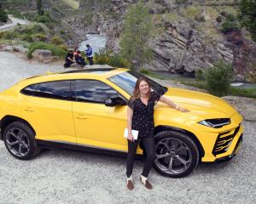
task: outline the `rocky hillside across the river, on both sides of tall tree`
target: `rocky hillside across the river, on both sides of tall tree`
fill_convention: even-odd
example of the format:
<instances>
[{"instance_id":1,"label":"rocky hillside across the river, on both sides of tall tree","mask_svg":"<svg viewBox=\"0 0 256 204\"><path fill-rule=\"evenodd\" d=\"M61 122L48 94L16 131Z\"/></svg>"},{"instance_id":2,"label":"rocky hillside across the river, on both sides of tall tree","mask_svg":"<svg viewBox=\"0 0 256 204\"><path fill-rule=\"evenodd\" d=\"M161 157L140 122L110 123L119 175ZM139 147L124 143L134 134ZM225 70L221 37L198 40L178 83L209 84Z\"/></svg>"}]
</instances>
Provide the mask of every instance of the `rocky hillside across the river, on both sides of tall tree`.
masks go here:
<instances>
[{"instance_id":1,"label":"rocky hillside across the river, on both sides of tall tree","mask_svg":"<svg viewBox=\"0 0 256 204\"><path fill-rule=\"evenodd\" d=\"M68 23L81 35L108 36L108 48L119 50L122 20L135 0L81 0ZM153 15L155 38L151 42L154 71L195 76L218 59L234 65L237 81L256 82L256 46L245 30L223 31L225 21L236 20L239 1L145 0Z\"/></svg>"}]
</instances>

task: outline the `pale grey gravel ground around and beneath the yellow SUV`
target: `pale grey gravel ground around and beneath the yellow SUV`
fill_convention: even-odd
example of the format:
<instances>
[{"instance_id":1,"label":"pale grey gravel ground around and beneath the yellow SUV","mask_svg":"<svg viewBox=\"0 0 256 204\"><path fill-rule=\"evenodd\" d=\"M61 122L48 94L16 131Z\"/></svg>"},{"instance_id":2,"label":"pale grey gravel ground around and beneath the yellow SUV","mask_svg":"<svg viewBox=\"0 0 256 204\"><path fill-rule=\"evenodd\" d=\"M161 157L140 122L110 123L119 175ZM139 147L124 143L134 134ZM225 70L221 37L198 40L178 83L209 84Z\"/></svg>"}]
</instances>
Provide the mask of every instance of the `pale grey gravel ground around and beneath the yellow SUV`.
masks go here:
<instances>
[{"instance_id":1,"label":"pale grey gravel ground around and beneath the yellow SUV","mask_svg":"<svg viewBox=\"0 0 256 204\"><path fill-rule=\"evenodd\" d=\"M61 64L27 62L0 52L1 90L49 70L61 71ZM44 150L32 161L19 161L0 141L0 203L255 203L255 124L245 122L241 150L231 161L199 164L186 178L165 178L153 169L154 190L140 184L143 163L136 161L131 192L125 187L125 158Z\"/></svg>"}]
</instances>

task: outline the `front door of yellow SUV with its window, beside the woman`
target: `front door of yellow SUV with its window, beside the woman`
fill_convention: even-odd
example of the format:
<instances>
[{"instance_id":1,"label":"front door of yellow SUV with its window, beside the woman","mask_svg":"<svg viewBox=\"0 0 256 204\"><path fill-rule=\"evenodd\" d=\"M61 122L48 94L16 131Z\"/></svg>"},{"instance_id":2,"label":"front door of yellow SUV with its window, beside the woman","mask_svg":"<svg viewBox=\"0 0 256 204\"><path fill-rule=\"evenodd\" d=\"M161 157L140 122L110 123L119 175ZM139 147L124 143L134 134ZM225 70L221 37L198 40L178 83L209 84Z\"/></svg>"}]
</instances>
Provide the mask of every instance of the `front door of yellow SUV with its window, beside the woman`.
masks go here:
<instances>
[{"instance_id":1,"label":"front door of yellow SUV with its window, beside the woman","mask_svg":"<svg viewBox=\"0 0 256 204\"><path fill-rule=\"evenodd\" d=\"M96 80L76 80L73 120L78 144L108 150L127 150L124 138L126 105L109 107L106 99L117 96L108 84Z\"/></svg>"}]
</instances>

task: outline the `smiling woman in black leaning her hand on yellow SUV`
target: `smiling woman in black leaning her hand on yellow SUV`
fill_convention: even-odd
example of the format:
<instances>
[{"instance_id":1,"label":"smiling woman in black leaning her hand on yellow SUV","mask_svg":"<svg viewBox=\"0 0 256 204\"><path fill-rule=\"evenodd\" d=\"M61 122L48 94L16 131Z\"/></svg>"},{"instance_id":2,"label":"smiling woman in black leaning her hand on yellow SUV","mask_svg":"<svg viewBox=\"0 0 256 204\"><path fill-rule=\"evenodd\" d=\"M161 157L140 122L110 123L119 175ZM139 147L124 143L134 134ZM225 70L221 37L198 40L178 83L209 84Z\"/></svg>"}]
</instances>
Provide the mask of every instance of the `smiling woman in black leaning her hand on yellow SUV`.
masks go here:
<instances>
[{"instance_id":1,"label":"smiling woman in black leaning her hand on yellow SUV","mask_svg":"<svg viewBox=\"0 0 256 204\"><path fill-rule=\"evenodd\" d=\"M137 151L137 144L143 144L143 156L145 156L143 173L140 178L147 189L152 189L148 182L148 173L154 162L154 105L161 101L177 111L189 111L176 105L172 100L160 94L150 92L150 82L146 77L137 79L136 86L131 99L128 101L127 126L128 126L128 155L126 164L127 188L133 189L132 169L134 157ZM138 131L138 139L134 139L131 130Z\"/></svg>"}]
</instances>

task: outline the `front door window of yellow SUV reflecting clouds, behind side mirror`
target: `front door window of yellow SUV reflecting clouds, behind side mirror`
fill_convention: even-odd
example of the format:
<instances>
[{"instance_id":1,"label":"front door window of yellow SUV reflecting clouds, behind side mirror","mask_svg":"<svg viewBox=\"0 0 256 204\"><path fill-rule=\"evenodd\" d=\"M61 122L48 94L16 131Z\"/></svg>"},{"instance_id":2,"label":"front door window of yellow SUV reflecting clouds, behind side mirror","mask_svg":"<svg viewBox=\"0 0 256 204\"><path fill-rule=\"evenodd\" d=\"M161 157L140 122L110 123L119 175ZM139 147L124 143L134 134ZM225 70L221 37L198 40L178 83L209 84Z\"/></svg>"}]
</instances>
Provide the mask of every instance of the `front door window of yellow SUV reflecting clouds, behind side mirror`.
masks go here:
<instances>
[{"instance_id":1,"label":"front door window of yellow SUV reflecting clouds, behind side mirror","mask_svg":"<svg viewBox=\"0 0 256 204\"><path fill-rule=\"evenodd\" d=\"M76 80L76 100L105 103L106 99L119 94L107 84L95 80Z\"/></svg>"}]
</instances>

